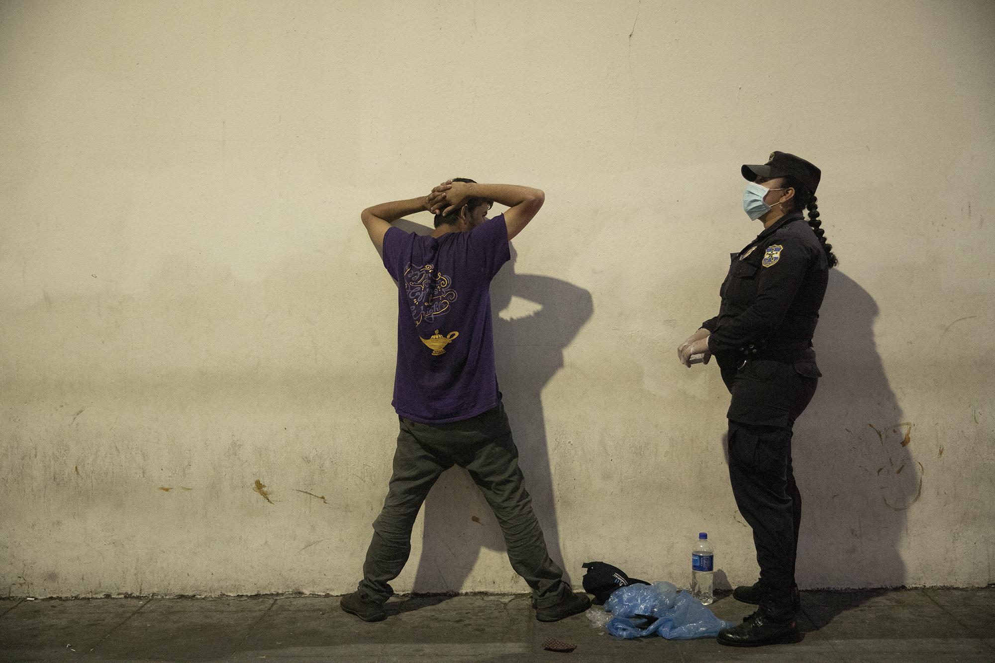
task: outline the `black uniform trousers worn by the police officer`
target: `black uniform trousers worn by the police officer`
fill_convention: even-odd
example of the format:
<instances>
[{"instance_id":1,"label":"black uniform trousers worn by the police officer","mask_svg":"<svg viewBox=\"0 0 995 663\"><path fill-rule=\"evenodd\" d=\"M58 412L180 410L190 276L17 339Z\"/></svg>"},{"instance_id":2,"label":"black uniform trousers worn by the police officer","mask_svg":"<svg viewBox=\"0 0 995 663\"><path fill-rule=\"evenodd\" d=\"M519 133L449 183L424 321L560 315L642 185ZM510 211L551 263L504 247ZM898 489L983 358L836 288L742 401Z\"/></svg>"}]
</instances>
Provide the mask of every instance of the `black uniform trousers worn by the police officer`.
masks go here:
<instances>
[{"instance_id":1,"label":"black uniform trousers worn by the police officer","mask_svg":"<svg viewBox=\"0 0 995 663\"><path fill-rule=\"evenodd\" d=\"M815 394L815 356L733 358L719 365L732 394L727 413L729 480L736 507L753 530L764 596L760 609L787 617L793 613L802 515L791 466L792 427Z\"/></svg>"}]
</instances>

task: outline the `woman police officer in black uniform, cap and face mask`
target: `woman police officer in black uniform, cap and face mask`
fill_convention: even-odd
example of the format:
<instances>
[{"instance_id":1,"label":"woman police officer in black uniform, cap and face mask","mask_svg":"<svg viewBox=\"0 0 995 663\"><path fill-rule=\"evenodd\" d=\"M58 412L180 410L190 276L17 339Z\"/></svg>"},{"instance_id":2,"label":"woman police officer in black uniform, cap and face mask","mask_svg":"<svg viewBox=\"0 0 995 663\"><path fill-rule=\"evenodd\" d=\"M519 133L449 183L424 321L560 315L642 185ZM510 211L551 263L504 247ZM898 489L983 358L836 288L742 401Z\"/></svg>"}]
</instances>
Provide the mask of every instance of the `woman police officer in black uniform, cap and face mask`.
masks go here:
<instances>
[{"instance_id":1,"label":"woman police officer in black uniform, cap and face mask","mask_svg":"<svg viewBox=\"0 0 995 663\"><path fill-rule=\"evenodd\" d=\"M759 608L721 631L718 641L756 646L800 639L794 616L801 496L791 469L791 435L822 374L812 334L837 260L820 228L819 168L774 152L767 163L743 165L741 172L748 180L743 210L763 223L763 231L732 254L718 315L681 344L678 357L690 366L693 356L707 363L714 355L732 394L729 479L760 565L759 580L732 595Z\"/></svg>"}]
</instances>

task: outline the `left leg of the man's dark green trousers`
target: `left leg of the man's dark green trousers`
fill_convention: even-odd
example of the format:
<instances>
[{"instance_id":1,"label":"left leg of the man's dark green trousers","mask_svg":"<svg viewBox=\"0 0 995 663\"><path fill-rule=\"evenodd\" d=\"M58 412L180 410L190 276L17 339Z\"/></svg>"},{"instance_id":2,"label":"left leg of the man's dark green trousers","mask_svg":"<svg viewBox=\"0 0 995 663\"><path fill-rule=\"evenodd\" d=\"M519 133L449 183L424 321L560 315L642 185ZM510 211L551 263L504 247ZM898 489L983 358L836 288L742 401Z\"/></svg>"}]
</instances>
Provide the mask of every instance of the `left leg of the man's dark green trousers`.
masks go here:
<instances>
[{"instance_id":1,"label":"left leg of the man's dark green trousers","mask_svg":"<svg viewBox=\"0 0 995 663\"><path fill-rule=\"evenodd\" d=\"M411 530L418 511L439 476L453 465L412 434L412 422L401 419L393 474L380 515L373 522L373 539L363 562L359 590L386 601L394 593L389 582L401 573L411 554Z\"/></svg>"}]
</instances>

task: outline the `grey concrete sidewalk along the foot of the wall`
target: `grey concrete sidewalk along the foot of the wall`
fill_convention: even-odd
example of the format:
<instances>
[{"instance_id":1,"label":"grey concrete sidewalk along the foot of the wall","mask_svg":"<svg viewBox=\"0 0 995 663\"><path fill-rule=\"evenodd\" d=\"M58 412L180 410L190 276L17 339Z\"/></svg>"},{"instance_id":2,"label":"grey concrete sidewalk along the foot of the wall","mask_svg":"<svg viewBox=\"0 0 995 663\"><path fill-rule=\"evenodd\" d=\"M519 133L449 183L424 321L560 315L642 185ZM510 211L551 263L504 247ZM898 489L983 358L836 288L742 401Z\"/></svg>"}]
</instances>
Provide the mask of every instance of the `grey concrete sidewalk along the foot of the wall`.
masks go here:
<instances>
[{"instance_id":1,"label":"grey concrete sidewalk along the foot of the wall","mask_svg":"<svg viewBox=\"0 0 995 663\"><path fill-rule=\"evenodd\" d=\"M3 661L995 661L995 586L802 592L803 642L616 640L584 615L544 624L524 595L401 597L386 621L337 596L0 599ZM753 606L712 609L738 621ZM555 637L570 654L544 651Z\"/></svg>"}]
</instances>

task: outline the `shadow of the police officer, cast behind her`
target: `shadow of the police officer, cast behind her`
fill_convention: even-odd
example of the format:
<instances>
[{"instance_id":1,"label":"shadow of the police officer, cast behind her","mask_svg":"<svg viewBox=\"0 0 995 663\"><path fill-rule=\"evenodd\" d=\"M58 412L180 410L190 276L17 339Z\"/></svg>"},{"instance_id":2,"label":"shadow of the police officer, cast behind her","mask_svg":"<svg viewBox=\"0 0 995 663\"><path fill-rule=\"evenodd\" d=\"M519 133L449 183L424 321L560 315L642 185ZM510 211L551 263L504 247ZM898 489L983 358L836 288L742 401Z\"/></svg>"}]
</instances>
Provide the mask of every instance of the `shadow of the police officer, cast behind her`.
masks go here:
<instances>
[{"instance_id":1,"label":"shadow of the police officer, cast behind her","mask_svg":"<svg viewBox=\"0 0 995 663\"><path fill-rule=\"evenodd\" d=\"M925 457L933 441L917 435L897 402L875 342L878 313L859 284L830 272L813 341L823 377L792 444L802 493L797 580L879 589L803 592L809 629L905 581L899 546L923 476L911 452Z\"/></svg>"}]
</instances>

